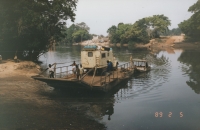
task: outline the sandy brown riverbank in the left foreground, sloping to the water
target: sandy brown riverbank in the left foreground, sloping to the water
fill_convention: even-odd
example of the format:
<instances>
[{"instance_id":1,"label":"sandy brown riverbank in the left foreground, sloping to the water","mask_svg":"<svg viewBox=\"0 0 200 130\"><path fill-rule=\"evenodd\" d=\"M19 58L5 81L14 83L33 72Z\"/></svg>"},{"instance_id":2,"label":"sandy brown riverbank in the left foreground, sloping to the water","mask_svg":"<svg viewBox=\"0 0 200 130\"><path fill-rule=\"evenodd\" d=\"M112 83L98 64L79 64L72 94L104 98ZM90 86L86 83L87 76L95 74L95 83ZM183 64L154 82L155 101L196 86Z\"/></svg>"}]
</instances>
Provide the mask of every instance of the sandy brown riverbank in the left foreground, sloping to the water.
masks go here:
<instances>
[{"instance_id":1,"label":"sandy brown riverbank in the left foreground, sloping to the water","mask_svg":"<svg viewBox=\"0 0 200 130\"><path fill-rule=\"evenodd\" d=\"M30 61L0 63L0 129L105 128L85 115L87 106L77 109L68 98L53 98L52 87L31 78L39 72L40 67Z\"/></svg>"}]
</instances>

